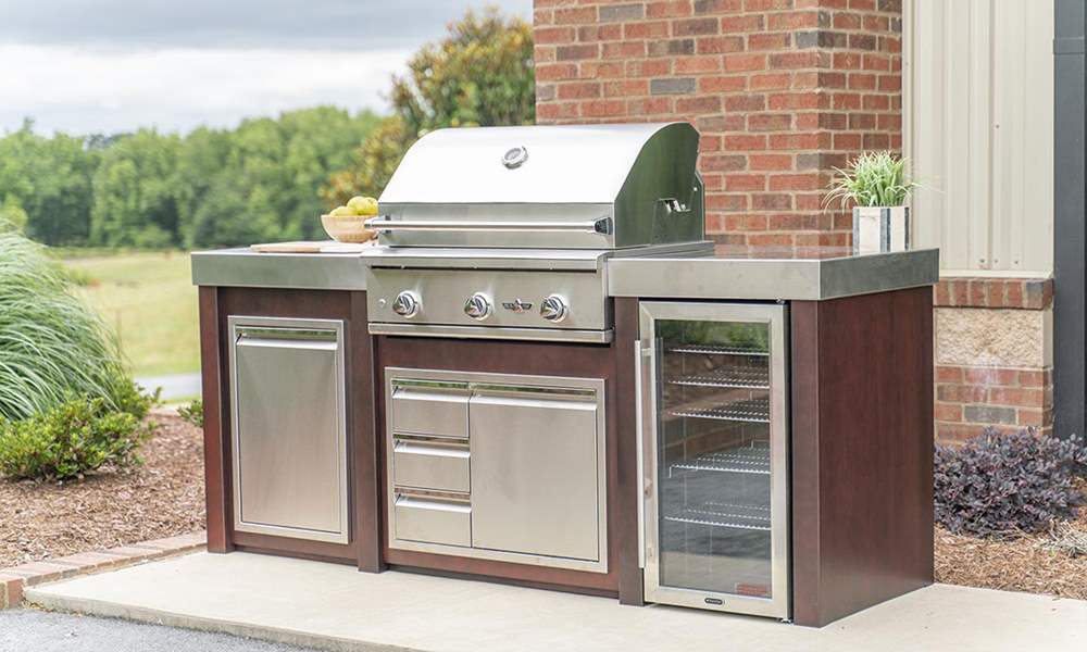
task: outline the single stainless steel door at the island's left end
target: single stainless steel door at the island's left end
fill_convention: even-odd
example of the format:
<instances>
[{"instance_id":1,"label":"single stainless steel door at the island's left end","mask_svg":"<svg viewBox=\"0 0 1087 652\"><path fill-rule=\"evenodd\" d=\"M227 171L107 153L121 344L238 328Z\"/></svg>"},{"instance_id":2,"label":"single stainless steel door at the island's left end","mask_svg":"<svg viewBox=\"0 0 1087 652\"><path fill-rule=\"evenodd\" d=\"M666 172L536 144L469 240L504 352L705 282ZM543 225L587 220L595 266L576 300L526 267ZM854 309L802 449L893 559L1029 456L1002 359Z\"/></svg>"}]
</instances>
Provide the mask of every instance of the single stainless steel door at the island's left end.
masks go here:
<instances>
[{"instance_id":1,"label":"single stainless steel door at the island's left end","mask_svg":"<svg viewBox=\"0 0 1087 652\"><path fill-rule=\"evenodd\" d=\"M228 325L234 528L347 543L343 323Z\"/></svg>"}]
</instances>

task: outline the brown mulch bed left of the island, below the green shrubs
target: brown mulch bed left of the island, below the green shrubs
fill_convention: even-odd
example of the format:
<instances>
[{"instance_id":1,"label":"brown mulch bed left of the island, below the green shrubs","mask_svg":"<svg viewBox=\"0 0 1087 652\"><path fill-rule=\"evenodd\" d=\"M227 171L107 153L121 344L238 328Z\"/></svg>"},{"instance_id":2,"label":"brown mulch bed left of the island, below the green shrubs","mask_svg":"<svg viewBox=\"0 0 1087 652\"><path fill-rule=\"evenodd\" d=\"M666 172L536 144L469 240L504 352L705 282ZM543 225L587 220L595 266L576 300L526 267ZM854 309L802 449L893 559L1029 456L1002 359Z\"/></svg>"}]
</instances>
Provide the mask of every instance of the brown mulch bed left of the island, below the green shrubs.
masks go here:
<instances>
[{"instance_id":1,"label":"brown mulch bed left of the island, below the green shrubs","mask_svg":"<svg viewBox=\"0 0 1087 652\"><path fill-rule=\"evenodd\" d=\"M201 431L152 418L141 466L64 485L0 479L0 568L203 529Z\"/></svg>"}]
</instances>

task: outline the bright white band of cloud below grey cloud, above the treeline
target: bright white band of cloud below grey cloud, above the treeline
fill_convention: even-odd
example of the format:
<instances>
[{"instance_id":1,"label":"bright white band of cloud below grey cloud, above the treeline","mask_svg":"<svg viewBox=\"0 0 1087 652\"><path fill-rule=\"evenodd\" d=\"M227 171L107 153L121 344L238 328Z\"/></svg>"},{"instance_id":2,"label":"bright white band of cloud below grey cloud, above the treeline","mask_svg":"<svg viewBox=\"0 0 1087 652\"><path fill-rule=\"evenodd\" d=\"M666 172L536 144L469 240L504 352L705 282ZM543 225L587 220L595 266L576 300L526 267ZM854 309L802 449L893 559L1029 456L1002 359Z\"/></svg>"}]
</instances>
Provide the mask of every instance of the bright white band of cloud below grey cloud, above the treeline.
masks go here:
<instances>
[{"instance_id":1,"label":"bright white band of cloud below grey cloud, above the treeline","mask_svg":"<svg viewBox=\"0 0 1087 652\"><path fill-rule=\"evenodd\" d=\"M0 130L185 131L315 104L387 109L411 51L0 45Z\"/></svg>"}]
</instances>

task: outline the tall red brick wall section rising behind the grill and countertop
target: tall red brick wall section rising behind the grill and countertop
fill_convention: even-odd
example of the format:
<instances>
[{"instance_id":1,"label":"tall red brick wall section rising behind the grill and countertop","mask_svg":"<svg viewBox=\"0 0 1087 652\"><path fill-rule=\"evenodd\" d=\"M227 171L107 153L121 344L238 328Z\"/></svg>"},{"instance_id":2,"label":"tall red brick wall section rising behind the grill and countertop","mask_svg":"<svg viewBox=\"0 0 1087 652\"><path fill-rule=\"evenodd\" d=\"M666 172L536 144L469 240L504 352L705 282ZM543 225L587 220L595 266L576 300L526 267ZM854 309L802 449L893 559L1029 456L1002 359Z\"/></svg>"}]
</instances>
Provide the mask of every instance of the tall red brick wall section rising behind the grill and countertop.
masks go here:
<instances>
[{"instance_id":1,"label":"tall red brick wall section rising behind the grill and countertop","mask_svg":"<svg viewBox=\"0 0 1087 652\"><path fill-rule=\"evenodd\" d=\"M537 122L686 120L721 242L848 244L834 166L901 147L898 0L536 0Z\"/></svg>"}]
</instances>

